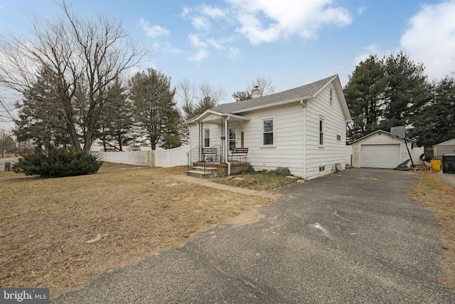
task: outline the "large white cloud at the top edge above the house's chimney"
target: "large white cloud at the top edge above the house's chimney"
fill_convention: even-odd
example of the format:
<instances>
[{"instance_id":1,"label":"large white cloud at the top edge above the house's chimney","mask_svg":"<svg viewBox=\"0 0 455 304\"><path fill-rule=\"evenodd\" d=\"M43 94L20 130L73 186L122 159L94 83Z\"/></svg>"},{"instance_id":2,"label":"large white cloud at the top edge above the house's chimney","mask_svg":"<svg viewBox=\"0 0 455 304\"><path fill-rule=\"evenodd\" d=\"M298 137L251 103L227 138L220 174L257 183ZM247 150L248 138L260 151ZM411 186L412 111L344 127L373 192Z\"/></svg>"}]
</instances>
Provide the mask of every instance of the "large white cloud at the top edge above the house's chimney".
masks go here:
<instances>
[{"instance_id":1,"label":"large white cloud at the top edge above the house's chimney","mask_svg":"<svg viewBox=\"0 0 455 304\"><path fill-rule=\"evenodd\" d=\"M226 0L236 12L237 31L251 43L277 41L298 35L316 38L323 26L346 26L352 22L347 9L333 6L333 0Z\"/></svg>"}]
</instances>

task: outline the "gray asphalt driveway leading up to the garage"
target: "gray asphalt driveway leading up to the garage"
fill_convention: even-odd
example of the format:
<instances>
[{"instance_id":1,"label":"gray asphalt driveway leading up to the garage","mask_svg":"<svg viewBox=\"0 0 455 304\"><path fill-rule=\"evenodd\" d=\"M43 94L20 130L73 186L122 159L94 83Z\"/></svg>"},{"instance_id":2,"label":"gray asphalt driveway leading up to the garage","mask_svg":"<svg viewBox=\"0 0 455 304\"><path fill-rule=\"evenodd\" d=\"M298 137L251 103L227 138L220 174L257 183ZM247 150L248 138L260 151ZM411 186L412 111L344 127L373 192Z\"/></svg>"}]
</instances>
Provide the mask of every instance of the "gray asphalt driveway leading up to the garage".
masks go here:
<instances>
[{"instance_id":1,"label":"gray asphalt driveway leading up to the garage","mask_svg":"<svg viewBox=\"0 0 455 304\"><path fill-rule=\"evenodd\" d=\"M413 172L350 169L287 187L273 204L53 301L455 303L437 281L440 227L410 198L415 182Z\"/></svg>"}]
</instances>

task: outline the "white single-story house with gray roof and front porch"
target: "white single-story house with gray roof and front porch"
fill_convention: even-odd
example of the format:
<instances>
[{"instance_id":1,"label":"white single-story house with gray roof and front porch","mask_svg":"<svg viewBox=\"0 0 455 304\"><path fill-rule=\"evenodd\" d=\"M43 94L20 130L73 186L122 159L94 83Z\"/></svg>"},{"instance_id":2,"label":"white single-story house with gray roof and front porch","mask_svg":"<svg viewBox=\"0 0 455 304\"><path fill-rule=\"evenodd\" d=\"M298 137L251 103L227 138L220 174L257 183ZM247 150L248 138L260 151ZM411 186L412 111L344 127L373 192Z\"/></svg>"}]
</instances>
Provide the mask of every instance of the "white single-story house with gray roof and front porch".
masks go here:
<instances>
[{"instance_id":1,"label":"white single-story house with gray roof and front porch","mask_svg":"<svg viewBox=\"0 0 455 304\"><path fill-rule=\"evenodd\" d=\"M256 170L287 167L298 177L313 179L331 173L337 165L345 169L350 121L343 88L338 75L333 75L206 110L187 122L189 154L215 147L220 162L229 162L232 148L245 147L247 162Z\"/></svg>"}]
</instances>

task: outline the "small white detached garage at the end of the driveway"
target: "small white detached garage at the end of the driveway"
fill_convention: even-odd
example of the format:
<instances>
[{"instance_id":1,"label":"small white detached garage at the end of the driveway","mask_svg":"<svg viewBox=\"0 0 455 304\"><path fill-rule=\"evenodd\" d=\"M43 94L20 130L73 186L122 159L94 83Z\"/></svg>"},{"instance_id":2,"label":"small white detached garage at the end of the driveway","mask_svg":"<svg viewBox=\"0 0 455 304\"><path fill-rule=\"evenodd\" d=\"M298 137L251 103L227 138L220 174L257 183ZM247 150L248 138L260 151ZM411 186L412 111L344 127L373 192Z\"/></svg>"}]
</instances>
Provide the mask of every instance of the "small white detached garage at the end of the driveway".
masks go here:
<instances>
[{"instance_id":1,"label":"small white detached garage at the end of the driveway","mask_svg":"<svg viewBox=\"0 0 455 304\"><path fill-rule=\"evenodd\" d=\"M407 140L411 150L414 140ZM375 131L354 142L352 145L352 165L355 168L395 168L410 159L405 140L390 132Z\"/></svg>"}]
</instances>

